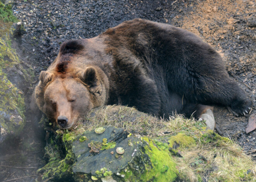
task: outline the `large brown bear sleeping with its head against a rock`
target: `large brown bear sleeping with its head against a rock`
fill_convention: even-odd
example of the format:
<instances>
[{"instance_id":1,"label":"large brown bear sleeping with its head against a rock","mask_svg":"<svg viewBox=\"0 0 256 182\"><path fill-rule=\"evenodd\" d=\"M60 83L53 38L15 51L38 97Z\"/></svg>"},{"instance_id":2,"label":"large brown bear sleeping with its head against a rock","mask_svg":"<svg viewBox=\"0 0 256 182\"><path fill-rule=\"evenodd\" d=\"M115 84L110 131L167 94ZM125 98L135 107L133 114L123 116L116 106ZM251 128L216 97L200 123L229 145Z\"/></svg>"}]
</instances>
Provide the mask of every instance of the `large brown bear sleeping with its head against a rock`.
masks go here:
<instances>
[{"instance_id":1,"label":"large brown bear sleeping with its head against a rock","mask_svg":"<svg viewBox=\"0 0 256 182\"><path fill-rule=\"evenodd\" d=\"M237 115L252 105L209 44L183 29L142 19L64 42L39 79L34 100L62 129L105 104L189 117L200 117L211 104L229 106Z\"/></svg>"}]
</instances>

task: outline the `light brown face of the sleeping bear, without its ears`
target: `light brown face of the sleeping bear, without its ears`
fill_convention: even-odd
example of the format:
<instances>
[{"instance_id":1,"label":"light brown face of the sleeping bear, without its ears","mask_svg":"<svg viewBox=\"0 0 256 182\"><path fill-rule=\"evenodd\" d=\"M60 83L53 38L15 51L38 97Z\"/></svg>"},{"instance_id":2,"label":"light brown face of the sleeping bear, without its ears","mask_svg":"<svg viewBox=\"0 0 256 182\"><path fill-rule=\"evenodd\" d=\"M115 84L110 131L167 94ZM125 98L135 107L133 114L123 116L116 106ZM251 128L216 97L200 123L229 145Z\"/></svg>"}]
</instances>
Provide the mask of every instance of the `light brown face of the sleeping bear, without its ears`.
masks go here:
<instances>
[{"instance_id":1,"label":"light brown face of the sleeping bear, without its ears","mask_svg":"<svg viewBox=\"0 0 256 182\"><path fill-rule=\"evenodd\" d=\"M74 78L57 78L46 88L44 98L43 112L62 129L71 128L93 108L87 87ZM61 124L60 117L66 117L67 123Z\"/></svg>"}]
</instances>

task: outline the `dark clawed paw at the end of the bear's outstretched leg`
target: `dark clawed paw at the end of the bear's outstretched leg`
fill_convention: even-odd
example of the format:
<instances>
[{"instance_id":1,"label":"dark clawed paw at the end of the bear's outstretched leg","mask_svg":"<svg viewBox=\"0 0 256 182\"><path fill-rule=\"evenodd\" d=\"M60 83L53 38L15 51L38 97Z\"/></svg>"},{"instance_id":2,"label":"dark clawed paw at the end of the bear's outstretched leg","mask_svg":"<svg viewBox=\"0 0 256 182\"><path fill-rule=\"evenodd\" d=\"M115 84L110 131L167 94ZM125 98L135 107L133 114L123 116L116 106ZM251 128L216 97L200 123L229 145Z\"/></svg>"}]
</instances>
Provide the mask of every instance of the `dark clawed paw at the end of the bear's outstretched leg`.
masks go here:
<instances>
[{"instance_id":1,"label":"dark clawed paw at the end of the bear's outstretched leg","mask_svg":"<svg viewBox=\"0 0 256 182\"><path fill-rule=\"evenodd\" d=\"M239 100L234 99L231 106L228 106L228 111L230 111L234 116L246 115L251 110L253 102L250 99Z\"/></svg>"}]
</instances>

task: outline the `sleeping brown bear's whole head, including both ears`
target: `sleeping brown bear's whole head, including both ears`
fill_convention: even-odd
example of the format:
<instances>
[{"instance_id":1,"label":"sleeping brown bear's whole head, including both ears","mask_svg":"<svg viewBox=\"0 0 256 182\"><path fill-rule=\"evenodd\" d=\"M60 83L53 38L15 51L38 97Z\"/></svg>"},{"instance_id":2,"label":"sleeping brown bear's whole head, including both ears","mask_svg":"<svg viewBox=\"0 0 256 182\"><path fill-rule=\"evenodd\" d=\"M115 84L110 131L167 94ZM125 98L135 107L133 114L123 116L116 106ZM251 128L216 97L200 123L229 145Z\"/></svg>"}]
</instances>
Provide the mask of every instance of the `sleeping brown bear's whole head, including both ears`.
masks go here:
<instances>
[{"instance_id":1,"label":"sleeping brown bear's whole head, including both ears","mask_svg":"<svg viewBox=\"0 0 256 182\"><path fill-rule=\"evenodd\" d=\"M108 99L109 82L97 66L89 66L73 76L42 71L39 79L35 102L61 129L71 128Z\"/></svg>"}]
</instances>

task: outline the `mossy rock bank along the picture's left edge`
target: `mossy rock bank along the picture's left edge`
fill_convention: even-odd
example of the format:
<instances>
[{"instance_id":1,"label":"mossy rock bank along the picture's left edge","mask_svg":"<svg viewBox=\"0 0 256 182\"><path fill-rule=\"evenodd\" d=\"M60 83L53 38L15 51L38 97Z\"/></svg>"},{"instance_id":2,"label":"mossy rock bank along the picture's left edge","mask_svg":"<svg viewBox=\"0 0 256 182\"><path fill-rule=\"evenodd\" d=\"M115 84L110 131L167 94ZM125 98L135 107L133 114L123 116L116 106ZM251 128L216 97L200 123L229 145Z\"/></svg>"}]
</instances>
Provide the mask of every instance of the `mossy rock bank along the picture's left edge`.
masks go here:
<instances>
[{"instance_id":1,"label":"mossy rock bank along the picture's left edge","mask_svg":"<svg viewBox=\"0 0 256 182\"><path fill-rule=\"evenodd\" d=\"M12 48L13 23L11 5L0 2L0 143L17 136L25 126L24 92L33 75L30 66L22 66L16 49Z\"/></svg>"}]
</instances>

